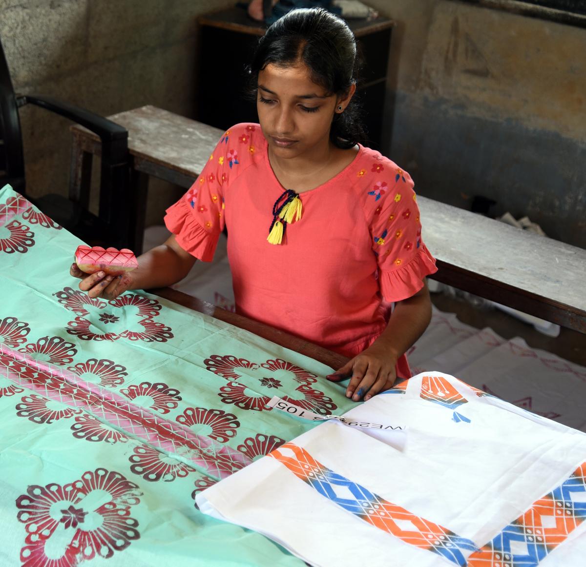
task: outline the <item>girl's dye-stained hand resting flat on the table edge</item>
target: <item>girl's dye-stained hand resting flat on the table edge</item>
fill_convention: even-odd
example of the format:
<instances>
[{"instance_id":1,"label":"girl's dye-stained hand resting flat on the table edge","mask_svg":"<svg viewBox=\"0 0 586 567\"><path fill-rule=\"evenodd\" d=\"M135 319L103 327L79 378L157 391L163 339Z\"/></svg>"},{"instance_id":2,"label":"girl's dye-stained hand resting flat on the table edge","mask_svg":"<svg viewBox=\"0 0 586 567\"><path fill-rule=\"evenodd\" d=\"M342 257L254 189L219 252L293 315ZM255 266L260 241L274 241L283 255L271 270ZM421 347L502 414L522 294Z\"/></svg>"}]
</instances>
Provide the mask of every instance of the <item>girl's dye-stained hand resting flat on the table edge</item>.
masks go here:
<instances>
[{"instance_id":1,"label":"girl's dye-stained hand resting flat on the table edge","mask_svg":"<svg viewBox=\"0 0 586 567\"><path fill-rule=\"evenodd\" d=\"M326 378L340 382L352 376L346 388L346 397L357 402L364 396L366 402L379 392L393 387L397 379L396 364L396 354L386 344L375 342Z\"/></svg>"}]
</instances>

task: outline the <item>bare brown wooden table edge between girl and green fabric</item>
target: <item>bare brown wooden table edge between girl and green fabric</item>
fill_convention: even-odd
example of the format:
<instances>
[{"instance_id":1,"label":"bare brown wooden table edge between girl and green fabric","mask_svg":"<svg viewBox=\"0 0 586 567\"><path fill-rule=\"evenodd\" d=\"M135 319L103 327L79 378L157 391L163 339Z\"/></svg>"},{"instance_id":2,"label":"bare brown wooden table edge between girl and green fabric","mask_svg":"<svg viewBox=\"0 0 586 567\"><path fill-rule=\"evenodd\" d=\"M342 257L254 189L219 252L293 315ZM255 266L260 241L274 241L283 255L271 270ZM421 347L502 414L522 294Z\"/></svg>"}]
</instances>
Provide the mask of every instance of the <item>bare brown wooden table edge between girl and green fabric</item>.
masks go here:
<instances>
[{"instance_id":1,"label":"bare brown wooden table edge between girl and green fabric","mask_svg":"<svg viewBox=\"0 0 586 567\"><path fill-rule=\"evenodd\" d=\"M314 360L318 360L334 370L338 370L338 368L342 367L349 360L341 354L333 353L331 350L309 343L305 339L300 339L299 337L295 337L292 334L285 333L254 319L248 319L248 317L244 317L243 315L237 315L231 311L221 309L176 289L158 288L149 289L148 292L169 299L169 301L179 303L179 305L183 305L194 311L199 311L210 317L220 319L220 321L230 323L230 325L234 325L235 327L240 327L240 329L246 329L259 337L263 337L263 339L270 340L272 343L280 344L280 346L286 349L291 349L304 356L314 358Z\"/></svg>"}]
</instances>

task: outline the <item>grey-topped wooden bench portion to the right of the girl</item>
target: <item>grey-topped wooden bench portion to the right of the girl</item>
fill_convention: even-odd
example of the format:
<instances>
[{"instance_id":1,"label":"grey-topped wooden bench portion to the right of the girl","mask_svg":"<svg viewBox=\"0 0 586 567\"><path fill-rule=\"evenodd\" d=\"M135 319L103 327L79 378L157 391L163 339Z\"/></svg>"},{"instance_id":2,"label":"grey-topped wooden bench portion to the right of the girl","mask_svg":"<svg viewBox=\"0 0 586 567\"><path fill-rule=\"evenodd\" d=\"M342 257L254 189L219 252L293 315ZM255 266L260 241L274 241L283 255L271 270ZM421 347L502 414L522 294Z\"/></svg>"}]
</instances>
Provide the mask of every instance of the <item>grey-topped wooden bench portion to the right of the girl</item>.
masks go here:
<instances>
[{"instance_id":1,"label":"grey-topped wooden bench portion to the right of the girl","mask_svg":"<svg viewBox=\"0 0 586 567\"><path fill-rule=\"evenodd\" d=\"M418 196L431 276L586 333L586 250Z\"/></svg>"}]
</instances>

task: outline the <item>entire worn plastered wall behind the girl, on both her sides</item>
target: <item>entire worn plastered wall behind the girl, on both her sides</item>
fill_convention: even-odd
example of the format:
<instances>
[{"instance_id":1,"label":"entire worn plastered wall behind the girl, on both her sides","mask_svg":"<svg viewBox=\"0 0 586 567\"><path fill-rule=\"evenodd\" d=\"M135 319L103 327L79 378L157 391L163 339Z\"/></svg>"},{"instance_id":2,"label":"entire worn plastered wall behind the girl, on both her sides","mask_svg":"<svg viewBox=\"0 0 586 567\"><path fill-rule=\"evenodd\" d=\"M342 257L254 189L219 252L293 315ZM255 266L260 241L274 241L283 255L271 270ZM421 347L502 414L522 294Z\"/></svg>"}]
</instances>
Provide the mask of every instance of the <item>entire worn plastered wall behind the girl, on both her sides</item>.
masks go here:
<instances>
[{"instance_id":1,"label":"entire worn plastered wall behind the girl, on both her sides","mask_svg":"<svg viewBox=\"0 0 586 567\"><path fill-rule=\"evenodd\" d=\"M586 247L586 29L455 0L368 0L395 19L384 151L420 193L528 214ZM196 17L233 0L0 0L0 36L23 93L108 115L195 107ZM32 194L65 193L68 123L21 109ZM148 223L180 191L152 183Z\"/></svg>"}]
</instances>

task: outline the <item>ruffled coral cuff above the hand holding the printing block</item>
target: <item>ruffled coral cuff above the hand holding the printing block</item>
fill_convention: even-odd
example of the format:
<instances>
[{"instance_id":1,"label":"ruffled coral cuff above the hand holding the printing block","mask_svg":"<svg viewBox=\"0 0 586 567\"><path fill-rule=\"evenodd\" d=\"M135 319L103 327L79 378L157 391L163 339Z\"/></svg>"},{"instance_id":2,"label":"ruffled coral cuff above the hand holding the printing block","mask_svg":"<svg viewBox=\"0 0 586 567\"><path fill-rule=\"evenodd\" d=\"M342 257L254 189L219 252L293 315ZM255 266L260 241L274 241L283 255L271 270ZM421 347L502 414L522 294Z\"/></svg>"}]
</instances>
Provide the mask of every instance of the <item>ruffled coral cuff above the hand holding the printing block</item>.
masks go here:
<instances>
[{"instance_id":1,"label":"ruffled coral cuff above the hand holding the printing block","mask_svg":"<svg viewBox=\"0 0 586 567\"><path fill-rule=\"evenodd\" d=\"M216 251L219 234L200 226L189 203L183 197L167 209L165 226L175 234L179 246L203 262L211 262Z\"/></svg>"}]
</instances>

